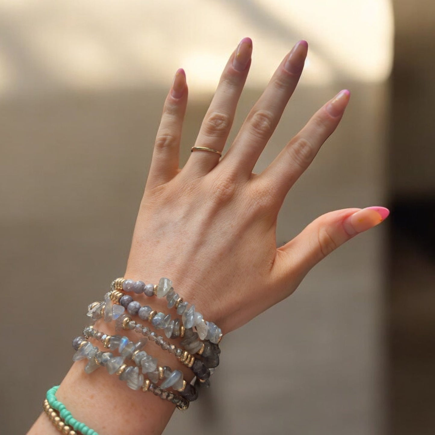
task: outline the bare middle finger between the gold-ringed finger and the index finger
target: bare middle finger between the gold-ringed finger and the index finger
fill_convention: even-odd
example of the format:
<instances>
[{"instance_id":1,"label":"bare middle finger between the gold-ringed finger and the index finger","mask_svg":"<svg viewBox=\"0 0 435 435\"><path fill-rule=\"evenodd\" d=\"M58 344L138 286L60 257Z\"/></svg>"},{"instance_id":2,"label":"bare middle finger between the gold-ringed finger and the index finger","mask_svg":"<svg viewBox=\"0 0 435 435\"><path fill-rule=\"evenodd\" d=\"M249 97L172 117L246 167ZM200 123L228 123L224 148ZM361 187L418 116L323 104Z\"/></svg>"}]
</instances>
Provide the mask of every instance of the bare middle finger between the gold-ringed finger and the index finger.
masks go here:
<instances>
[{"instance_id":1,"label":"bare middle finger between the gold-ringed finger and the index finger","mask_svg":"<svg viewBox=\"0 0 435 435\"><path fill-rule=\"evenodd\" d=\"M236 164L239 171L248 177L251 176L258 157L278 125L285 106L298 84L307 51L307 41L301 40L282 60L225 156L225 161L231 160L231 164Z\"/></svg>"}]
</instances>

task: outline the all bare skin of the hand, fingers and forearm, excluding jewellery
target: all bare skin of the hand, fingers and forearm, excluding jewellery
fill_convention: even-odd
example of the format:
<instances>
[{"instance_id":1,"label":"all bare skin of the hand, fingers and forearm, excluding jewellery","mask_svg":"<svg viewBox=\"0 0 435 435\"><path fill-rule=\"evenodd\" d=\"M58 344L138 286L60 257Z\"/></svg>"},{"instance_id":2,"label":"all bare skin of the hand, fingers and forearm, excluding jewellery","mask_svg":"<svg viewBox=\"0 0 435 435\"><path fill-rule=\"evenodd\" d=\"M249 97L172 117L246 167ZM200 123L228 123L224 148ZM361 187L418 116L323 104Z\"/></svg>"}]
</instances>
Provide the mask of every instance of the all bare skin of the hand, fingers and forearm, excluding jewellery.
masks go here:
<instances>
[{"instance_id":1,"label":"all bare skin of the hand, fingers and forearm, excluding jewellery","mask_svg":"<svg viewBox=\"0 0 435 435\"><path fill-rule=\"evenodd\" d=\"M188 94L183 70L177 71L164 102L124 277L153 283L162 276L170 278L184 300L220 326L224 335L287 298L315 264L388 215L383 207L331 211L277 248L282 202L338 126L350 96L345 90L325 103L267 169L252 173L298 83L307 50L306 41L300 41L284 57L221 159L212 152L194 151L179 168ZM194 146L223 150L251 66L251 52L252 42L244 38L231 54ZM137 300L144 304L145 296ZM153 299L153 308L167 311L159 299ZM95 328L114 333L111 325L101 321ZM180 368L191 380L191 371L179 363L177 367L174 358L157 346L154 350L161 365ZM57 391L58 400L77 420L100 435L164 430L174 405L127 388L104 369L86 375L85 364L75 362ZM44 413L28 432L58 433Z\"/></svg>"}]
</instances>

